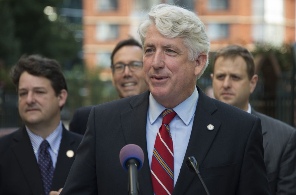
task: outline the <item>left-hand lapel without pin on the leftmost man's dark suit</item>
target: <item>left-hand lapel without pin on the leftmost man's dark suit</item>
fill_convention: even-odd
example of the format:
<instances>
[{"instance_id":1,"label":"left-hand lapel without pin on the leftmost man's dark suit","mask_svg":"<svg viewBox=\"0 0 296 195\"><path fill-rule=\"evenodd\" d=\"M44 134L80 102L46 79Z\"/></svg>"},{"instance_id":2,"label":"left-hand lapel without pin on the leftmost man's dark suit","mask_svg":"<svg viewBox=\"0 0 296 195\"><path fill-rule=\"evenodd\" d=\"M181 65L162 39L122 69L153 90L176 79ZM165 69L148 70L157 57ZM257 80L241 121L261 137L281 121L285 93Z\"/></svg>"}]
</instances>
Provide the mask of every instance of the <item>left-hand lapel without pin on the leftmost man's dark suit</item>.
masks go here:
<instances>
[{"instance_id":1,"label":"left-hand lapel without pin on the leftmost man's dark suit","mask_svg":"<svg viewBox=\"0 0 296 195\"><path fill-rule=\"evenodd\" d=\"M40 170L25 127L18 130L13 141L14 146L12 147L12 151L22 169L32 194L44 194Z\"/></svg>"}]
</instances>

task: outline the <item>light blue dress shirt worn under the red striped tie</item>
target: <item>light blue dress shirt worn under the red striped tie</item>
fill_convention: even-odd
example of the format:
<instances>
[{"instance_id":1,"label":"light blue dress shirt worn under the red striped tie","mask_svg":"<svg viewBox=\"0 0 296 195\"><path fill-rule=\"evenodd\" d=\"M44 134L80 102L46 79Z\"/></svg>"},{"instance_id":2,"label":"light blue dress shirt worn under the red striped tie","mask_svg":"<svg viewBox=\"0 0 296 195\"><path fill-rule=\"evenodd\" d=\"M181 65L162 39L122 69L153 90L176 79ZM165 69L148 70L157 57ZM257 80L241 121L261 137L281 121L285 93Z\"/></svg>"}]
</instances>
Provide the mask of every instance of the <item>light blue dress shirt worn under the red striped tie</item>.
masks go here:
<instances>
[{"instance_id":1,"label":"light blue dress shirt worn under the red striped tie","mask_svg":"<svg viewBox=\"0 0 296 195\"><path fill-rule=\"evenodd\" d=\"M191 135L198 97L198 92L195 87L194 92L189 98L173 108L173 110L177 113L177 115L170 122L170 133L172 135L174 148L174 187L180 173ZM161 113L165 109L166 108L158 103L150 93L146 126L147 151L150 168L156 135L163 121Z\"/></svg>"}]
</instances>

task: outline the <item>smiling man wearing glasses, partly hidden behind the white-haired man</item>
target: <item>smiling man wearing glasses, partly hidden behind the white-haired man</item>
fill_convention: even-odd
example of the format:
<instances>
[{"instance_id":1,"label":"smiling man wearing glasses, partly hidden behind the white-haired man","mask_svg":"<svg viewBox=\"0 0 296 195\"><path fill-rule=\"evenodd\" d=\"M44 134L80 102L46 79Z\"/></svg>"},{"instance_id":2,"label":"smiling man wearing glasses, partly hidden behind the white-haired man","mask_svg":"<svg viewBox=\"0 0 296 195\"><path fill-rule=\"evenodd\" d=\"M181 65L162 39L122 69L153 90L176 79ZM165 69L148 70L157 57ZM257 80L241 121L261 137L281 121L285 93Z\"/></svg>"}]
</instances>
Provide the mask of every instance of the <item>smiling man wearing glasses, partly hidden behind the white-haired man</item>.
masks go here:
<instances>
[{"instance_id":1,"label":"smiling man wearing glasses, partly hidden behind the white-haired man","mask_svg":"<svg viewBox=\"0 0 296 195\"><path fill-rule=\"evenodd\" d=\"M118 98L138 95L147 90L143 80L142 46L133 38L120 41L111 54L112 84L118 92ZM69 130L84 134L89 113L93 106L76 109Z\"/></svg>"}]
</instances>

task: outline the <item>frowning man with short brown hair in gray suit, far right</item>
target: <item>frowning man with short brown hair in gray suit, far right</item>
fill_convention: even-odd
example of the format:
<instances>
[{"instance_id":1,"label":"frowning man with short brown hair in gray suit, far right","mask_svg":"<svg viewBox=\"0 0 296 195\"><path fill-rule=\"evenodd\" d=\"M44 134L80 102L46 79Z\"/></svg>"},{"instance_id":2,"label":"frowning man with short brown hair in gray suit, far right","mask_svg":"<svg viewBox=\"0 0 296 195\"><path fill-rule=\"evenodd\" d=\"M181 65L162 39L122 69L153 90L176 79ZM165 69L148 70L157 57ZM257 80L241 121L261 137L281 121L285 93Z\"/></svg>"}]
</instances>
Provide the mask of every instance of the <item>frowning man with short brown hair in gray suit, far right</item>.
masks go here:
<instances>
[{"instance_id":1,"label":"frowning man with short brown hair in gray suit, far right","mask_svg":"<svg viewBox=\"0 0 296 195\"><path fill-rule=\"evenodd\" d=\"M296 131L251 108L249 97L258 81L252 54L246 48L229 45L216 53L213 64L215 98L261 119L264 162L272 194L295 194Z\"/></svg>"}]
</instances>

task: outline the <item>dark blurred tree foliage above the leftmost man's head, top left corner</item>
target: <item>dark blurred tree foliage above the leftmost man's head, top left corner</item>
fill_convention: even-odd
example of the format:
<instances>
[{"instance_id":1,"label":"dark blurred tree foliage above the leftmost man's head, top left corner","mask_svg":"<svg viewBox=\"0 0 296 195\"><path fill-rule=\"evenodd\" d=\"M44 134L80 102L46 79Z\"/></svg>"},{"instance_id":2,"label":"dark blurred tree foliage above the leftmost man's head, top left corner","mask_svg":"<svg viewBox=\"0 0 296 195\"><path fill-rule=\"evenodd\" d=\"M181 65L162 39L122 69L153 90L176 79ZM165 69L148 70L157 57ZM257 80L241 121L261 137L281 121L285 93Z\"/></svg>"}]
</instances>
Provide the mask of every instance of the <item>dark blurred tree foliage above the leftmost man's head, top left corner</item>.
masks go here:
<instances>
[{"instance_id":1,"label":"dark blurred tree foliage above the leftmost man's head, top left corner","mask_svg":"<svg viewBox=\"0 0 296 195\"><path fill-rule=\"evenodd\" d=\"M67 21L49 21L46 6L63 0L0 0L0 60L11 66L23 54L54 58L62 66L78 60L80 45ZM58 12L58 10L57 10Z\"/></svg>"}]
</instances>

